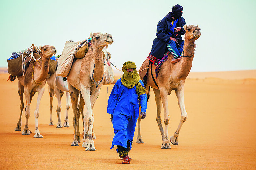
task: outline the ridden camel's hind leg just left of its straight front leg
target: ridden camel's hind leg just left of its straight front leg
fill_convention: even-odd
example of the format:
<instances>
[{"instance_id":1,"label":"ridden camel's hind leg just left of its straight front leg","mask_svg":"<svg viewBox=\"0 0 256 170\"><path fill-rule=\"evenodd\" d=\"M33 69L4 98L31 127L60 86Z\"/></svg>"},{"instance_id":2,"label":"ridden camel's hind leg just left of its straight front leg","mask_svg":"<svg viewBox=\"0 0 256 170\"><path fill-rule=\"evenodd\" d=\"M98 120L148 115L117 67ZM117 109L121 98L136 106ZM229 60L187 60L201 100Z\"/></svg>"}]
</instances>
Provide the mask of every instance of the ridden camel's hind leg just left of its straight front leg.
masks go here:
<instances>
[{"instance_id":1,"label":"ridden camel's hind leg just left of its straight front leg","mask_svg":"<svg viewBox=\"0 0 256 170\"><path fill-rule=\"evenodd\" d=\"M158 125L158 128L160 130L162 141L164 140L164 129L162 125L162 119L161 119L161 110L162 110L162 102L160 97L160 91L158 89L153 88L153 91L155 93L155 101L156 101L156 122Z\"/></svg>"}]
</instances>

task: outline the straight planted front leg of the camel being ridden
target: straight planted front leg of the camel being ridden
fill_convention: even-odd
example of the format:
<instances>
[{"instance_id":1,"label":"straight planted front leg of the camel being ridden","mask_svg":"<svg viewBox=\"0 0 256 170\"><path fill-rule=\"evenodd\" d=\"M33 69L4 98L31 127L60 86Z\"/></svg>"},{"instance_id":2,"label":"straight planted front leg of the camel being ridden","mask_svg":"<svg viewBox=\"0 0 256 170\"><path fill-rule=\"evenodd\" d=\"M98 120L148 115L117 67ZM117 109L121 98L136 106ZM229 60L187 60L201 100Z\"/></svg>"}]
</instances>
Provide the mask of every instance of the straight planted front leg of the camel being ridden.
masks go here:
<instances>
[{"instance_id":1,"label":"straight planted front leg of the camel being ridden","mask_svg":"<svg viewBox=\"0 0 256 170\"><path fill-rule=\"evenodd\" d=\"M165 134L164 134L164 140L161 145L161 148L169 149L171 148L171 146L170 146L170 141L168 140L168 126L169 126L169 120L170 120L169 110L168 110L168 98L167 98L168 90L165 88L160 88L159 92L160 92L161 100L164 107L164 124L165 124Z\"/></svg>"}]
</instances>

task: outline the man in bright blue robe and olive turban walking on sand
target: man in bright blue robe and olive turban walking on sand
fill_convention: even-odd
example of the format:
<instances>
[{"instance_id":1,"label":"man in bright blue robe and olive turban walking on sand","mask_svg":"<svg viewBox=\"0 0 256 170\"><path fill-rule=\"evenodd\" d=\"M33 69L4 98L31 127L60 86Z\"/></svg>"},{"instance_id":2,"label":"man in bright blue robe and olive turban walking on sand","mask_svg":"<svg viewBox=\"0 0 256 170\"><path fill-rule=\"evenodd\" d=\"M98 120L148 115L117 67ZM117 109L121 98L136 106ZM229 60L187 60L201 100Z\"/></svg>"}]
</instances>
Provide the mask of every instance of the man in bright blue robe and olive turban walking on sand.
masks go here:
<instances>
[{"instance_id":1,"label":"man in bright blue robe and olive turban walking on sand","mask_svg":"<svg viewBox=\"0 0 256 170\"><path fill-rule=\"evenodd\" d=\"M115 133L111 149L117 146L119 157L123 158L122 164L130 164L128 151L132 148L138 117L146 117L147 97L135 63L125 62L122 71L124 74L117 80L109 96L107 113L111 114Z\"/></svg>"}]
</instances>

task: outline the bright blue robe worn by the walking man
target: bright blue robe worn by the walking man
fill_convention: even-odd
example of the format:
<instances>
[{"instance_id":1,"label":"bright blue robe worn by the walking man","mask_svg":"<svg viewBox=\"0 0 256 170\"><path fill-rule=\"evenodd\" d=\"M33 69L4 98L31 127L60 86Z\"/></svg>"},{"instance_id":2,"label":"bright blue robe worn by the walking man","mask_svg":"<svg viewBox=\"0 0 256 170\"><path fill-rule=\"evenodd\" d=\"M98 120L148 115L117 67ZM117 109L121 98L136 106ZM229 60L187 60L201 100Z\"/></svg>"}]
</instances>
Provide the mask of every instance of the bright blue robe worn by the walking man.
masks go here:
<instances>
[{"instance_id":1,"label":"bright blue robe worn by the walking man","mask_svg":"<svg viewBox=\"0 0 256 170\"><path fill-rule=\"evenodd\" d=\"M139 80L139 83L143 85L141 80ZM146 98L146 93L140 95L141 112L146 112ZM129 89L122 84L121 78L117 80L108 99L107 113L113 115L115 136L112 141L111 149L118 145L127 148L128 140L131 149L134 131L139 117L136 86Z\"/></svg>"}]
</instances>

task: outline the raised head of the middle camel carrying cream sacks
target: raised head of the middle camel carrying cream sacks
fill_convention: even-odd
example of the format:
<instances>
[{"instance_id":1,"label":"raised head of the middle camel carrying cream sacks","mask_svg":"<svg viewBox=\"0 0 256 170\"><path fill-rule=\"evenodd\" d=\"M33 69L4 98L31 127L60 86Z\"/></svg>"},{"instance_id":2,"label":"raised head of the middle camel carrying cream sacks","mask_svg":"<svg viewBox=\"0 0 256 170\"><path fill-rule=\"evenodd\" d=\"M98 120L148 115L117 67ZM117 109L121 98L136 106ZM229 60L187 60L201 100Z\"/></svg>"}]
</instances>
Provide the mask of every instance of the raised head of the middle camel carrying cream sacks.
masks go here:
<instances>
[{"instance_id":1,"label":"raised head of the middle camel carrying cream sacks","mask_svg":"<svg viewBox=\"0 0 256 170\"><path fill-rule=\"evenodd\" d=\"M92 46L99 48L99 49L103 49L104 47L106 47L108 44L112 44L113 38L112 35L108 34L108 33L91 33L91 42L92 42Z\"/></svg>"}]
</instances>

